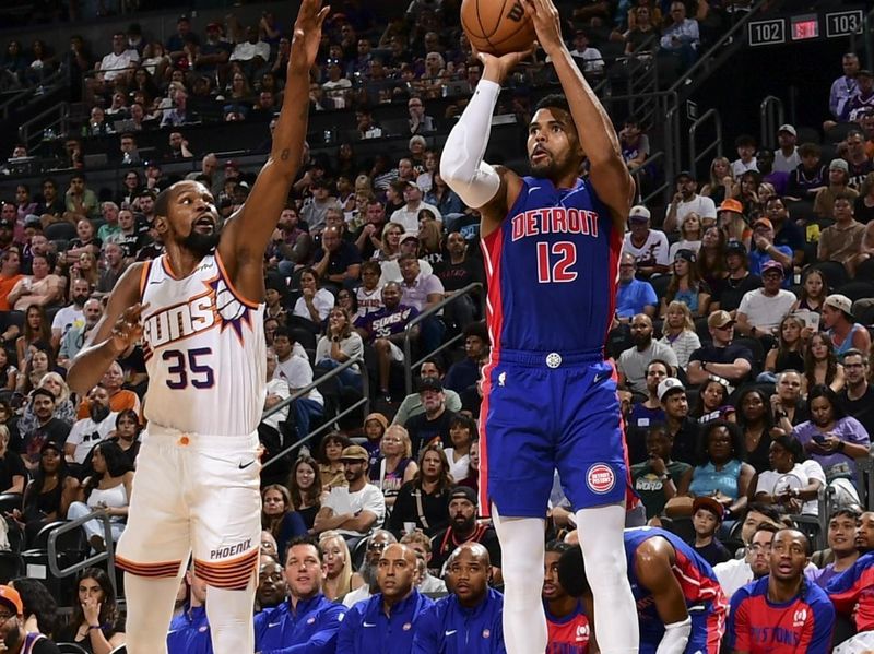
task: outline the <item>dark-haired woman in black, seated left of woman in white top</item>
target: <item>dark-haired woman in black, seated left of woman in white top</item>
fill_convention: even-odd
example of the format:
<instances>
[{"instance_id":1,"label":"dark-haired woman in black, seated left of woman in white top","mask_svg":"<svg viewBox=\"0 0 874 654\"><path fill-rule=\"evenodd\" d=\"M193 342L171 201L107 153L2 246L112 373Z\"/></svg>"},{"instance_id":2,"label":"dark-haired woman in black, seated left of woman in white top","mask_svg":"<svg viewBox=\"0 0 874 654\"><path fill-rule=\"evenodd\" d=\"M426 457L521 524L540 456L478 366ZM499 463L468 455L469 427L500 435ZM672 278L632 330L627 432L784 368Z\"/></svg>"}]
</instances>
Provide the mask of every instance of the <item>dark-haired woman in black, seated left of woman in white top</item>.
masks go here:
<instances>
[{"instance_id":1,"label":"dark-haired woman in black, seated left of woman in white top","mask_svg":"<svg viewBox=\"0 0 874 654\"><path fill-rule=\"evenodd\" d=\"M78 488L79 481L67 471L62 445L46 441L39 449L33 480L24 489L23 510L13 511L13 518L24 526L26 543L33 543L48 523L63 520Z\"/></svg>"}]
</instances>

